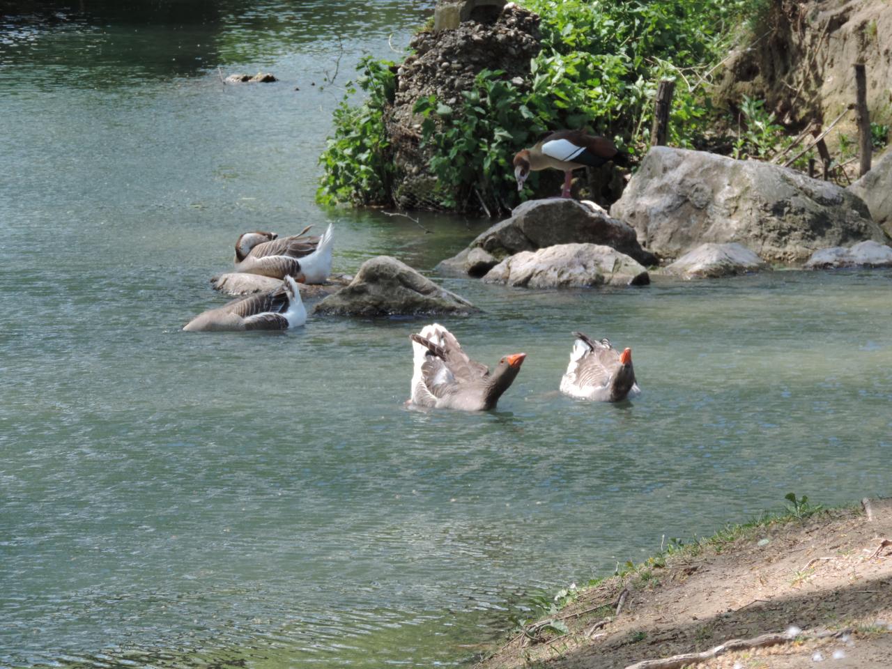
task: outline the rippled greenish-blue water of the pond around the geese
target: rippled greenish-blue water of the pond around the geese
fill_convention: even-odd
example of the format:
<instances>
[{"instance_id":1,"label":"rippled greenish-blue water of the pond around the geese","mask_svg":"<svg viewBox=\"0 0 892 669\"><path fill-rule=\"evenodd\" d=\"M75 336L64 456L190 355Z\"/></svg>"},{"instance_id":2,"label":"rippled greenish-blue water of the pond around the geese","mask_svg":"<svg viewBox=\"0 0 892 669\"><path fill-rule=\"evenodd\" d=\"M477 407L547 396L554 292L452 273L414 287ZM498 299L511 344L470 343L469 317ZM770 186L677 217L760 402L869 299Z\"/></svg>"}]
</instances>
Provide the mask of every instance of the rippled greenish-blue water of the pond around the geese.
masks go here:
<instances>
[{"instance_id":1,"label":"rippled greenish-blue water of the pond around the geese","mask_svg":"<svg viewBox=\"0 0 892 669\"><path fill-rule=\"evenodd\" d=\"M432 3L86 4L0 28L0 665L457 664L664 535L888 494L888 271L447 279L468 351L529 355L483 415L402 406L422 322L180 332L246 229L334 222L351 272L485 227L313 203L336 86ZM632 346L639 400L556 392L574 329Z\"/></svg>"}]
</instances>

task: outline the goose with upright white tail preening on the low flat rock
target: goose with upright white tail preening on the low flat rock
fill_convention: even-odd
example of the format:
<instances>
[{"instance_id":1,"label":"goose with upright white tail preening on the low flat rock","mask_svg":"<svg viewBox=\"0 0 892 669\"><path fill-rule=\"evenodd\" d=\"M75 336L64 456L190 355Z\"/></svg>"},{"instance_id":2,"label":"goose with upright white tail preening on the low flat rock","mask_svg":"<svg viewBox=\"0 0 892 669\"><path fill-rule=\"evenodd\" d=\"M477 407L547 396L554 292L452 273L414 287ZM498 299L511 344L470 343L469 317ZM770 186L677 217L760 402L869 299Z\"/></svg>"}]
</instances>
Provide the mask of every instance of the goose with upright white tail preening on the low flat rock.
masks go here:
<instances>
[{"instance_id":1,"label":"goose with upright white tail preening on the low flat rock","mask_svg":"<svg viewBox=\"0 0 892 669\"><path fill-rule=\"evenodd\" d=\"M332 227L321 237L279 237L272 232L246 232L235 242L235 271L264 277L297 278L301 284L321 284L332 271Z\"/></svg>"}]
</instances>

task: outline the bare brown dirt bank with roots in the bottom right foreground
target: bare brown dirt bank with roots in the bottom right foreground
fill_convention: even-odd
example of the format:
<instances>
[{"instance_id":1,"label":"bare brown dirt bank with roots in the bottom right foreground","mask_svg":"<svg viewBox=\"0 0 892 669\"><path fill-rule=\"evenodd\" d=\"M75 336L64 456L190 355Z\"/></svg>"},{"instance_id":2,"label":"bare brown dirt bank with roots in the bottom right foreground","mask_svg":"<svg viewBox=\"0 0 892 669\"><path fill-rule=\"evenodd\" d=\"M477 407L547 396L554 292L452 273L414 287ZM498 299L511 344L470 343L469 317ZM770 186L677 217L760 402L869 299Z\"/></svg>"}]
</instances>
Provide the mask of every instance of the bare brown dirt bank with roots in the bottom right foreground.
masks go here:
<instances>
[{"instance_id":1,"label":"bare brown dirt bank with roots in the bottom right foreground","mask_svg":"<svg viewBox=\"0 0 892 669\"><path fill-rule=\"evenodd\" d=\"M867 507L733 528L651 558L478 666L890 667L892 500ZM669 659L688 653L714 657Z\"/></svg>"}]
</instances>

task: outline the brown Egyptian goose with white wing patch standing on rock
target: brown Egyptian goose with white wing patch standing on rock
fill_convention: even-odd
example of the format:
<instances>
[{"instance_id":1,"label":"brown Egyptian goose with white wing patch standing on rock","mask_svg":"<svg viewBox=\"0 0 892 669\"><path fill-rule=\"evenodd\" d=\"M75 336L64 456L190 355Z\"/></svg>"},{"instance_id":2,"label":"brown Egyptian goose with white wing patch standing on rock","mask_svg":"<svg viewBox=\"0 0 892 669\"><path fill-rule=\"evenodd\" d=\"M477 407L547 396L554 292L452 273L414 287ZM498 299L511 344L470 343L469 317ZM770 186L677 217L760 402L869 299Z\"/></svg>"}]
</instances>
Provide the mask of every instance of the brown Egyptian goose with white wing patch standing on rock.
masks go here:
<instances>
[{"instance_id":1,"label":"brown Egyptian goose with white wing patch standing on rock","mask_svg":"<svg viewBox=\"0 0 892 669\"><path fill-rule=\"evenodd\" d=\"M586 135L582 130L556 130L543 137L532 149L524 149L514 156L514 176L517 190L524 189L524 182L531 171L553 168L564 170L564 190L561 197L570 197L570 180L573 170L588 165L600 167L607 161L625 164L621 153L607 137Z\"/></svg>"}]
</instances>

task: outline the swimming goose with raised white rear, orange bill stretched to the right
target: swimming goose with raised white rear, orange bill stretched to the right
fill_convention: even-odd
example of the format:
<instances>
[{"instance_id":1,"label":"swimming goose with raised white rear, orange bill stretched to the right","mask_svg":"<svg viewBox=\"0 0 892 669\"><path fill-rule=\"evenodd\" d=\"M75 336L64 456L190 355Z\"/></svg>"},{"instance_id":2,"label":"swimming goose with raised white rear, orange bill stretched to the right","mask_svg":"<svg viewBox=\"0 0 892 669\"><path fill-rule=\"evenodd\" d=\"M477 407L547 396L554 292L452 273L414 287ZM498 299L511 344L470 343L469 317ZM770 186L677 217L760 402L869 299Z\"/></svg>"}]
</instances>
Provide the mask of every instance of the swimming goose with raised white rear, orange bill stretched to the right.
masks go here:
<instances>
[{"instance_id":1,"label":"swimming goose with raised white rear, orange bill stretched to the right","mask_svg":"<svg viewBox=\"0 0 892 669\"><path fill-rule=\"evenodd\" d=\"M505 356L490 374L486 365L468 358L455 336L437 323L409 338L415 363L409 402L419 407L494 409L526 358L526 353Z\"/></svg>"}]
</instances>

